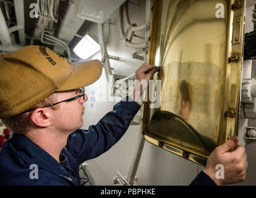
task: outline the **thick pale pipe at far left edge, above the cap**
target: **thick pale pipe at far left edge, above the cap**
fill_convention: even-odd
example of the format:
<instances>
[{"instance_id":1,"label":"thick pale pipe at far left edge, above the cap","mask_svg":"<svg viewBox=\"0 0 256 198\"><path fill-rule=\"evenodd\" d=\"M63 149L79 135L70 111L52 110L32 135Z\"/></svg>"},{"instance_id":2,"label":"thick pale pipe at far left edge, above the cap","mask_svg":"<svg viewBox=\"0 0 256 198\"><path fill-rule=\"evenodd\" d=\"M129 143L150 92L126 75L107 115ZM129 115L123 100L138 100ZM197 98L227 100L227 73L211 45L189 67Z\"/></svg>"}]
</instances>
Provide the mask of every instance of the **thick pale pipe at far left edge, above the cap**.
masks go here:
<instances>
[{"instance_id":1,"label":"thick pale pipe at far left edge, above the cap","mask_svg":"<svg viewBox=\"0 0 256 198\"><path fill-rule=\"evenodd\" d=\"M11 36L9 34L9 30L6 25L6 20L4 19L4 15L2 14L2 10L0 9L0 41L3 46L11 46Z\"/></svg>"}]
</instances>

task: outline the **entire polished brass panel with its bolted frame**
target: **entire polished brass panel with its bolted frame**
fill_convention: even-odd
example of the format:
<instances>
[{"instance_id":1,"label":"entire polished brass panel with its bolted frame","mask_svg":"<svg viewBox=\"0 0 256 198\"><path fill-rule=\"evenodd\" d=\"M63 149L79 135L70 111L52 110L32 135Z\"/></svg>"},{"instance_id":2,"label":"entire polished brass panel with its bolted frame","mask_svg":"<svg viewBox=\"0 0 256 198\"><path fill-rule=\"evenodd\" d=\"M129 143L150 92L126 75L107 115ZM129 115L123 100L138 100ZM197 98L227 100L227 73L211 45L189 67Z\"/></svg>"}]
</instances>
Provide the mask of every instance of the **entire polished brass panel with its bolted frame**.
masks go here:
<instances>
[{"instance_id":1,"label":"entire polished brass panel with its bolted frame","mask_svg":"<svg viewBox=\"0 0 256 198\"><path fill-rule=\"evenodd\" d=\"M237 134L244 11L244 1L154 1L148 58L162 87L159 108L144 103L148 142L205 166Z\"/></svg>"}]
</instances>

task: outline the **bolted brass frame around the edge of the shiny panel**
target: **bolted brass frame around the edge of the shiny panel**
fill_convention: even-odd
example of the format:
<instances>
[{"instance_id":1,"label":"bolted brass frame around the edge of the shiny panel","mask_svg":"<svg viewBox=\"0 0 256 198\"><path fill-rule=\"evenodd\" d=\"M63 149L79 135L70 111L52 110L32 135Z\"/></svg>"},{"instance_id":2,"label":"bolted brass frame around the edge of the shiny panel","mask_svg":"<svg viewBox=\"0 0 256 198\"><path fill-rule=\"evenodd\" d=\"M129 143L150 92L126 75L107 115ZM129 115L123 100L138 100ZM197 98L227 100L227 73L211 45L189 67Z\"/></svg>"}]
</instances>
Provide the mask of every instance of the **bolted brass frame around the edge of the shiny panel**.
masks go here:
<instances>
[{"instance_id":1,"label":"bolted brass frame around the edge of the shiny panel","mask_svg":"<svg viewBox=\"0 0 256 198\"><path fill-rule=\"evenodd\" d=\"M224 72L223 97L221 105L221 119L219 123L219 139L218 145L223 144L232 136L237 135L239 105L240 105L240 87L242 77L242 55L244 43L244 13L245 0L227 1L227 16L229 17L226 35L226 71ZM161 9L162 0L154 0L154 10L152 14L151 24L151 40L149 45L148 60L149 64L155 63L157 40L159 39L159 28L161 26ZM233 24L234 22L234 24ZM232 73L232 69L236 68L237 74ZM148 97L149 98L149 97ZM150 134L147 127L147 118L149 113L149 101L144 102L142 133L144 138L162 149L175 153L180 157L205 166L209 154L201 153L183 145L170 142L161 137Z\"/></svg>"}]
</instances>

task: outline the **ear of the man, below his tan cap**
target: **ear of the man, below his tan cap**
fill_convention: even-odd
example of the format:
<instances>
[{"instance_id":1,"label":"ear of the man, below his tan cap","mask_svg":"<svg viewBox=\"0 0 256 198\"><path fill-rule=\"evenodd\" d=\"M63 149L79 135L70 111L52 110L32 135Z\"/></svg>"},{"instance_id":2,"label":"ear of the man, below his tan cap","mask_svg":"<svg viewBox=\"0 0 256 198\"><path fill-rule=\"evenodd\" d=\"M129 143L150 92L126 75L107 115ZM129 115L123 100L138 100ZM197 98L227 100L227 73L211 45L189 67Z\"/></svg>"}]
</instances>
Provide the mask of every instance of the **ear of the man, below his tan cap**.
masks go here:
<instances>
[{"instance_id":1,"label":"ear of the man, below his tan cap","mask_svg":"<svg viewBox=\"0 0 256 198\"><path fill-rule=\"evenodd\" d=\"M39 127L48 127L51 125L50 122L50 111L45 108L37 108L30 115L32 123Z\"/></svg>"}]
</instances>

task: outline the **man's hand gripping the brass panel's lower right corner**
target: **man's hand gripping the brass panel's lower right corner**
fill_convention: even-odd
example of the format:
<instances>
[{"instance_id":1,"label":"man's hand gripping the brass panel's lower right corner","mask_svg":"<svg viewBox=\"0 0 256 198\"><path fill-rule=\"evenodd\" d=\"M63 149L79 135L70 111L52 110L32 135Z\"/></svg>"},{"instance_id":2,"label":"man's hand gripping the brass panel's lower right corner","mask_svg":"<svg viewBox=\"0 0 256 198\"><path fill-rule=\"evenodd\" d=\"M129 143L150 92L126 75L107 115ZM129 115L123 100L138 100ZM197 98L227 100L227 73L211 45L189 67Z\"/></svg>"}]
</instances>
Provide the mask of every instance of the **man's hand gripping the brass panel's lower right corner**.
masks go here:
<instances>
[{"instance_id":1,"label":"man's hand gripping the brass panel's lower right corner","mask_svg":"<svg viewBox=\"0 0 256 198\"><path fill-rule=\"evenodd\" d=\"M238 137L232 137L225 144L213 150L207 160L206 168L203 171L219 186L239 183L245 179L248 167L247 154L245 147L237 146L237 143ZM215 166L218 164L224 166L224 179L216 178L218 170L215 169Z\"/></svg>"}]
</instances>

